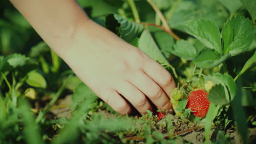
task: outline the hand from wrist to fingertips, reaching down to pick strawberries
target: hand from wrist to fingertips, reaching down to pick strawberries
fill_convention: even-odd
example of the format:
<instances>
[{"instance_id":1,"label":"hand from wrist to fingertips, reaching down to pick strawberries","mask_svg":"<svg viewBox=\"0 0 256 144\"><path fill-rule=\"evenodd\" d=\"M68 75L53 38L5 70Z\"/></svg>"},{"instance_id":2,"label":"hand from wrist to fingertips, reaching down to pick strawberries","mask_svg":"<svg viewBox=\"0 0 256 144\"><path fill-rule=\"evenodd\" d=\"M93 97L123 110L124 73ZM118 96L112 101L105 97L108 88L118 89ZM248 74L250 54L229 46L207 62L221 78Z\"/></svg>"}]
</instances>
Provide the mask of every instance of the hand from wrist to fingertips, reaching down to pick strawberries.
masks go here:
<instances>
[{"instance_id":1,"label":"hand from wrist to fingertips, reaching down to pick strawberries","mask_svg":"<svg viewBox=\"0 0 256 144\"><path fill-rule=\"evenodd\" d=\"M166 69L91 20L80 25L71 47L59 55L75 74L121 115L131 112L125 99L140 112L152 110L147 97L162 110L176 84ZM123 97L121 97L123 95Z\"/></svg>"}]
</instances>

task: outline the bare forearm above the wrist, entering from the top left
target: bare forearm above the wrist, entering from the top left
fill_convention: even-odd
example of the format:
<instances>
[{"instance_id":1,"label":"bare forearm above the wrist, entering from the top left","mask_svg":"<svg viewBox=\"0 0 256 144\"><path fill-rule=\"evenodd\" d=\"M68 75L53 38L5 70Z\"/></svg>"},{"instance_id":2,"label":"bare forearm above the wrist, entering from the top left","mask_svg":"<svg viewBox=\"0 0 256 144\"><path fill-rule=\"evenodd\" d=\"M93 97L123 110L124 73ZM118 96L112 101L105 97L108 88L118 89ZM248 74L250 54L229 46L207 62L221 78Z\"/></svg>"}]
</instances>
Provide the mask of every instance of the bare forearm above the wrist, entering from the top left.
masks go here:
<instances>
[{"instance_id":1,"label":"bare forearm above the wrist, entering from the top left","mask_svg":"<svg viewBox=\"0 0 256 144\"><path fill-rule=\"evenodd\" d=\"M72 43L89 18L75 0L10 0L55 51Z\"/></svg>"}]
</instances>

